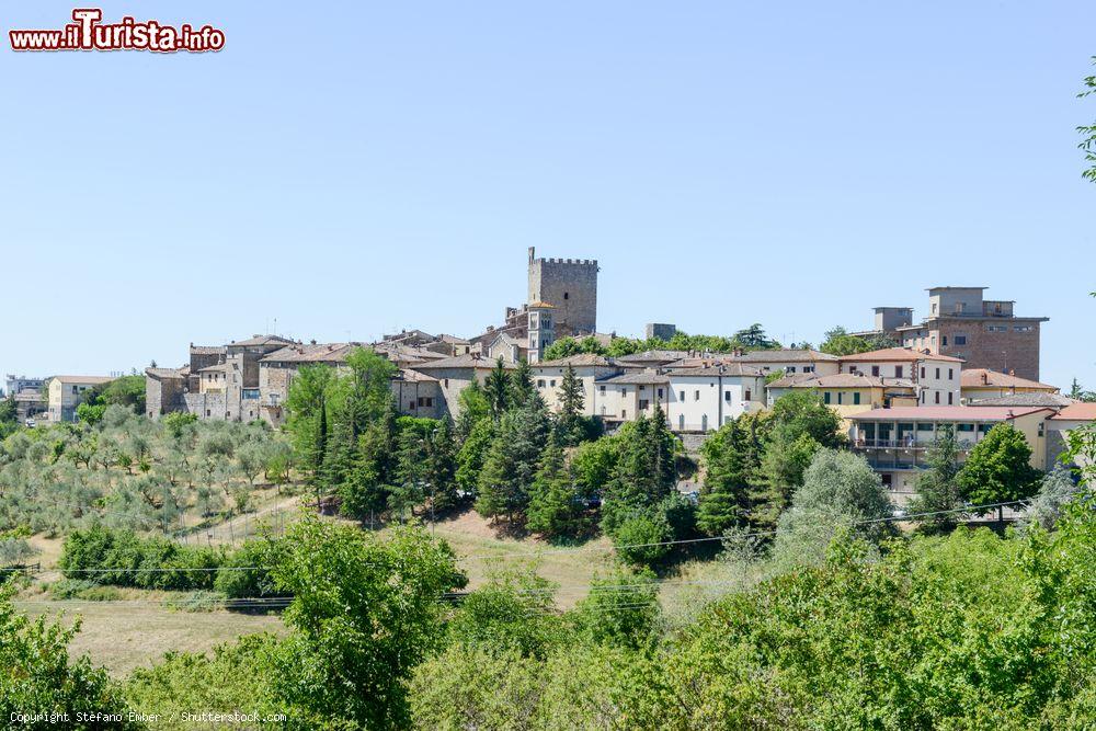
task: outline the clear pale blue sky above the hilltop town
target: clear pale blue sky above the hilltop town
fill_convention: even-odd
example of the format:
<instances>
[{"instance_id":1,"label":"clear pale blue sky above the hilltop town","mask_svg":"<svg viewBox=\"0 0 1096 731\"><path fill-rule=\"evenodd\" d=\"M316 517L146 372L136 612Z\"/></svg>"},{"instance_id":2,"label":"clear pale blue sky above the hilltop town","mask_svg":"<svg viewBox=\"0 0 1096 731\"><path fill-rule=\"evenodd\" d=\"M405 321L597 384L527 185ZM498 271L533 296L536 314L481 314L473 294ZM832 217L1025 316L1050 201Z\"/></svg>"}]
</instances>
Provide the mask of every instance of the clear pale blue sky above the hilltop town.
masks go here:
<instances>
[{"instance_id":1,"label":"clear pale blue sky above the hilltop town","mask_svg":"<svg viewBox=\"0 0 1096 731\"><path fill-rule=\"evenodd\" d=\"M79 4L79 3L77 3ZM1085 2L111 2L219 54L22 54L3 3L0 374L264 331L472 334L526 248L601 330L818 343L985 285L1096 387Z\"/></svg>"}]
</instances>

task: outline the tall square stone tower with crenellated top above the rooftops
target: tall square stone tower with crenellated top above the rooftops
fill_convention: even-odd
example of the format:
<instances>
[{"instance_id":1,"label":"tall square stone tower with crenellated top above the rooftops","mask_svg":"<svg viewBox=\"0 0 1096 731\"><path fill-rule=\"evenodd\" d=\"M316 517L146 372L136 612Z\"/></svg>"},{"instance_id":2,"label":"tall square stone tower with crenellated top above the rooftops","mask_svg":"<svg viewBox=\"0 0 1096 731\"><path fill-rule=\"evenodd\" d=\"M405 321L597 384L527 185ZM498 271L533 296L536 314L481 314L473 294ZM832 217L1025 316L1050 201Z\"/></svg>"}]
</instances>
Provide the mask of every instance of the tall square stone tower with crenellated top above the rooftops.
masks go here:
<instances>
[{"instance_id":1,"label":"tall square stone tower with crenellated top above the rooftops","mask_svg":"<svg viewBox=\"0 0 1096 731\"><path fill-rule=\"evenodd\" d=\"M537 259L529 247L528 302L547 302L553 310L556 335L597 330L597 261Z\"/></svg>"}]
</instances>

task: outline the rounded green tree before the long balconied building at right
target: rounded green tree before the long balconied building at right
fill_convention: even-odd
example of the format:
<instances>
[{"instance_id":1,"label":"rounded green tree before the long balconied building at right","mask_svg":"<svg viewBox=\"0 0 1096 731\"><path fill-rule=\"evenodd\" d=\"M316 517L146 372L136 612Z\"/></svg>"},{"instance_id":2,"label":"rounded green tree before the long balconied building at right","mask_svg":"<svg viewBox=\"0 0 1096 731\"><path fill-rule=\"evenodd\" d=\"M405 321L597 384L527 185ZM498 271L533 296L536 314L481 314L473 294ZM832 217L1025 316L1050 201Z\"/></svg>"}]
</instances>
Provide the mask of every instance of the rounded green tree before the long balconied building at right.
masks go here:
<instances>
[{"instance_id":1,"label":"rounded green tree before the long balconied building at right","mask_svg":"<svg viewBox=\"0 0 1096 731\"><path fill-rule=\"evenodd\" d=\"M973 504L1030 498L1039 489L1039 471L1030 460L1024 434L1012 424L997 424L973 446L956 476L959 493ZM997 510L1000 516L1003 507Z\"/></svg>"}]
</instances>

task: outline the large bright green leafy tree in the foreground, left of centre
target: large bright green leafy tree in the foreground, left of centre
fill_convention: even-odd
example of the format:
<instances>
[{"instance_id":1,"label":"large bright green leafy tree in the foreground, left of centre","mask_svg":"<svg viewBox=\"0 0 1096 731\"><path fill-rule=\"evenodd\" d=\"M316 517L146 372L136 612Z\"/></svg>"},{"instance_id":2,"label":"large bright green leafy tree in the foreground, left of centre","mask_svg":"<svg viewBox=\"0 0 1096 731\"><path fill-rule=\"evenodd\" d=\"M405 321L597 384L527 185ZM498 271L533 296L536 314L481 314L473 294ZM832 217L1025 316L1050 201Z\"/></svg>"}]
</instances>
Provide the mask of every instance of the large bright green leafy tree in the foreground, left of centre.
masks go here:
<instances>
[{"instance_id":1,"label":"large bright green leafy tree in the foreground, left of centre","mask_svg":"<svg viewBox=\"0 0 1096 731\"><path fill-rule=\"evenodd\" d=\"M463 586L453 551L421 527L387 540L316 516L295 524L275 585L295 597L267 679L302 728L345 719L407 728L407 681L442 641L438 595ZM350 728L350 727L347 727Z\"/></svg>"}]
</instances>

